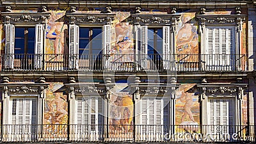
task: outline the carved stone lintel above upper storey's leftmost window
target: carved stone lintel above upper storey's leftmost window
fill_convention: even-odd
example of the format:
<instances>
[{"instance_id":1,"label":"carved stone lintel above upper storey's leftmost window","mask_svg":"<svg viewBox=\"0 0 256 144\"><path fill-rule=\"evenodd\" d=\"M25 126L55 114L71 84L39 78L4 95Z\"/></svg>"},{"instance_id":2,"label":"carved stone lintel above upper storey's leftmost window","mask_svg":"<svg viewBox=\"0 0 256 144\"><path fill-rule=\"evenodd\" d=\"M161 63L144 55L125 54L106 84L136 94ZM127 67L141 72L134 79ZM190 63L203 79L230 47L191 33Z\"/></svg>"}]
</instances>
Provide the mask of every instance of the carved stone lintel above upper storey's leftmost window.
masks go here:
<instances>
[{"instance_id":1,"label":"carved stone lintel above upper storey's leftmost window","mask_svg":"<svg viewBox=\"0 0 256 144\"><path fill-rule=\"evenodd\" d=\"M50 13L12 13L2 12L4 22L7 24L42 24L50 18Z\"/></svg>"}]
</instances>

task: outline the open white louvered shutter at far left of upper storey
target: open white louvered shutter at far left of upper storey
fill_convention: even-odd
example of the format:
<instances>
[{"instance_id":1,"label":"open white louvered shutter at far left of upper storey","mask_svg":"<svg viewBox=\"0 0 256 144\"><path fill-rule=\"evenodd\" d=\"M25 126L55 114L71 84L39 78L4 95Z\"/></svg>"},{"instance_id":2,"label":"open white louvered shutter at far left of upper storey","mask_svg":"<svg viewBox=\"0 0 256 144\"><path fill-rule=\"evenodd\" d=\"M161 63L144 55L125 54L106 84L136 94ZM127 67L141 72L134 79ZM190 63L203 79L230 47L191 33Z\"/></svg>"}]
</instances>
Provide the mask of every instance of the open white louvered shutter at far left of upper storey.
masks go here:
<instances>
[{"instance_id":1,"label":"open white louvered shutter at far left of upper storey","mask_svg":"<svg viewBox=\"0 0 256 144\"><path fill-rule=\"evenodd\" d=\"M13 68L14 61L15 27L13 24L5 25L5 58L4 68Z\"/></svg>"}]
</instances>

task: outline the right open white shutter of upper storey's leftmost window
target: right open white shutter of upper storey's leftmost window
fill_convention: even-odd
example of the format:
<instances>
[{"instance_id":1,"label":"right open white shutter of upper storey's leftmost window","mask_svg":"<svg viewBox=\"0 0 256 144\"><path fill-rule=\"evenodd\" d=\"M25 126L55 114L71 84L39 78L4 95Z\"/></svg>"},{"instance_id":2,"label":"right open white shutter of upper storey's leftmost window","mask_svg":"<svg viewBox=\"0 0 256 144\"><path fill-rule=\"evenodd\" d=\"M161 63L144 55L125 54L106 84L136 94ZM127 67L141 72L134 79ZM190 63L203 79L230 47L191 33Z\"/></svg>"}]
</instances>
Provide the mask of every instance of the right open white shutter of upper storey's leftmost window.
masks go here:
<instances>
[{"instance_id":1,"label":"right open white shutter of upper storey's leftmost window","mask_svg":"<svg viewBox=\"0 0 256 144\"><path fill-rule=\"evenodd\" d=\"M42 68L44 54L44 25L36 24L35 30L35 68Z\"/></svg>"}]
</instances>

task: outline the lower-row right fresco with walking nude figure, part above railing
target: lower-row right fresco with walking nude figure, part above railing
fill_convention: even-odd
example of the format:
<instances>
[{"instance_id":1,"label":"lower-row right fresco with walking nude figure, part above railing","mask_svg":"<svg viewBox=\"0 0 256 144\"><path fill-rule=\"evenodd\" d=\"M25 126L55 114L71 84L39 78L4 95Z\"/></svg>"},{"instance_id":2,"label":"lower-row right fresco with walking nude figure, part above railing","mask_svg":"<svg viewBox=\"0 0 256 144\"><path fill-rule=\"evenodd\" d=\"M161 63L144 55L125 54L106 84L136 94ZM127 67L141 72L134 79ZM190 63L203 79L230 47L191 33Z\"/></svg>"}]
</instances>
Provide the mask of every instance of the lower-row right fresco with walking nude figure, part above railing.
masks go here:
<instances>
[{"instance_id":1,"label":"lower-row right fresco with walking nude figure, part above railing","mask_svg":"<svg viewBox=\"0 0 256 144\"><path fill-rule=\"evenodd\" d=\"M176 93L175 122L177 125L200 124L200 104L193 86L195 84L181 84Z\"/></svg>"}]
</instances>

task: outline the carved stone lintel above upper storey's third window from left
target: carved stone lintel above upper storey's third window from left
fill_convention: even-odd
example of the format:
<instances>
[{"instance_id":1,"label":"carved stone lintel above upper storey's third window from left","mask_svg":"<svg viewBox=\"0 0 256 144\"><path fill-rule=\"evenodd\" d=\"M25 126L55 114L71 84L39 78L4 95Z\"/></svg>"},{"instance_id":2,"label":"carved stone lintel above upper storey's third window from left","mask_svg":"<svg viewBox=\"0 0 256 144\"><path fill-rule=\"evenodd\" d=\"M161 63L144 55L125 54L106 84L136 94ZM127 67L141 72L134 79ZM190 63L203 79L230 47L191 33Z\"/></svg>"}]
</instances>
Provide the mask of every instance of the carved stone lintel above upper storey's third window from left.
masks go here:
<instances>
[{"instance_id":1,"label":"carved stone lintel above upper storey's third window from left","mask_svg":"<svg viewBox=\"0 0 256 144\"><path fill-rule=\"evenodd\" d=\"M180 15L177 14L132 14L135 25L159 25L159 26L176 26L177 19ZM173 29L175 30L175 28Z\"/></svg>"}]
</instances>

